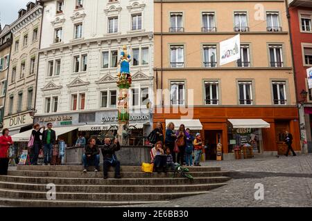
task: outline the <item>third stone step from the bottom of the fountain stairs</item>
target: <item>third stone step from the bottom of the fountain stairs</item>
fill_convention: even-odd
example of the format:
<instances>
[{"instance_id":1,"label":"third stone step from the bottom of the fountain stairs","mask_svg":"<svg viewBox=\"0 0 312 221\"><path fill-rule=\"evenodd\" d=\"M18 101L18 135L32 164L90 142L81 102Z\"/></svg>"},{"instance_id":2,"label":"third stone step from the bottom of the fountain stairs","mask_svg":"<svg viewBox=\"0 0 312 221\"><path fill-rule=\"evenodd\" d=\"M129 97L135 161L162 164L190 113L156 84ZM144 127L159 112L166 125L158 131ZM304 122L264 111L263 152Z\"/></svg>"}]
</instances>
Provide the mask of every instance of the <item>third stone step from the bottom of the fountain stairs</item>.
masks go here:
<instances>
[{"instance_id":1,"label":"third stone step from the bottom of the fountain stairs","mask_svg":"<svg viewBox=\"0 0 312 221\"><path fill-rule=\"evenodd\" d=\"M189 184L189 185L55 185L57 192L83 192L83 193L166 193L209 191L227 183L218 184ZM47 191L46 184L26 184L20 182L0 182L0 189L15 189L24 191Z\"/></svg>"}]
</instances>

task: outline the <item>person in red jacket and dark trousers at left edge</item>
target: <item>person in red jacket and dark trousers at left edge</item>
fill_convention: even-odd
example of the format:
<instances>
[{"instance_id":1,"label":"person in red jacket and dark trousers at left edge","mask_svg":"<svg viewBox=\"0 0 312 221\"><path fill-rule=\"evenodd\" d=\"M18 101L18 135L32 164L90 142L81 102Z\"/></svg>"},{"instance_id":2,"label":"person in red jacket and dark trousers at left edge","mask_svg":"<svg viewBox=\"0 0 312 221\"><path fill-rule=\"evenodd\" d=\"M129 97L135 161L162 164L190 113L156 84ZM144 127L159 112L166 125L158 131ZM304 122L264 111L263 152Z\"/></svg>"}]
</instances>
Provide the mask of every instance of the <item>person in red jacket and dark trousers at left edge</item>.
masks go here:
<instances>
[{"instance_id":1,"label":"person in red jacket and dark trousers at left edge","mask_svg":"<svg viewBox=\"0 0 312 221\"><path fill-rule=\"evenodd\" d=\"M0 175L8 175L8 148L13 144L8 133L8 128L4 128L0 137Z\"/></svg>"}]
</instances>

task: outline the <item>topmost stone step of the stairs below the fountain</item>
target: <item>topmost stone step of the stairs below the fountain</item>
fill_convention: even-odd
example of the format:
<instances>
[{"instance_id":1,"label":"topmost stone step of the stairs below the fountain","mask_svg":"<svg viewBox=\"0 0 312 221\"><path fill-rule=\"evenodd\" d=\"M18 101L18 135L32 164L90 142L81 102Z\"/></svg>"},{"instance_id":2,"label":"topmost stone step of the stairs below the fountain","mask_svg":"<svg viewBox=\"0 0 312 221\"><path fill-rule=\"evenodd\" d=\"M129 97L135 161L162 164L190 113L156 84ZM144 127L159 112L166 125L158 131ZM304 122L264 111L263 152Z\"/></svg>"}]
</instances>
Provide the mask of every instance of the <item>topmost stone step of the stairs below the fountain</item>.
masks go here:
<instances>
[{"instance_id":1,"label":"topmost stone step of the stairs below the fountain","mask_svg":"<svg viewBox=\"0 0 312 221\"><path fill-rule=\"evenodd\" d=\"M186 166L190 172L196 171L221 171L218 166ZM18 165L17 171L83 171L83 165L58 165L58 166L45 166L45 165ZM94 171L94 166L89 166L88 171ZM101 166L103 171L103 166ZM110 171L114 171L112 166ZM141 166L121 166L123 172L141 172Z\"/></svg>"}]
</instances>

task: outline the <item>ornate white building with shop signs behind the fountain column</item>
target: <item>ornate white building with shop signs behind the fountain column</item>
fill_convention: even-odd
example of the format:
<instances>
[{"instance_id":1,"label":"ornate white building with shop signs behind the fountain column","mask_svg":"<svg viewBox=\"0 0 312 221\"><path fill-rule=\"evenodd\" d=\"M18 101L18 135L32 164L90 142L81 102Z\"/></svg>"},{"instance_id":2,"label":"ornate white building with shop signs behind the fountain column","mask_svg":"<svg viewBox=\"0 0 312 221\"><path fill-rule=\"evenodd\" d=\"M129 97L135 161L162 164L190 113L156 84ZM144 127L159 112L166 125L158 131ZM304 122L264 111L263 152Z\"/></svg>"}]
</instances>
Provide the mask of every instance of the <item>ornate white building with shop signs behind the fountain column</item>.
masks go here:
<instances>
[{"instance_id":1,"label":"ornate white building with shop signs behind the fountain column","mask_svg":"<svg viewBox=\"0 0 312 221\"><path fill-rule=\"evenodd\" d=\"M153 1L43 2L35 121L53 122L57 133L73 131L62 136L69 144L78 130L89 136L118 124L117 62L127 45L130 103L140 110L130 123L147 133L153 122L146 110L153 91Z\"/></svg>"}]
</instances>

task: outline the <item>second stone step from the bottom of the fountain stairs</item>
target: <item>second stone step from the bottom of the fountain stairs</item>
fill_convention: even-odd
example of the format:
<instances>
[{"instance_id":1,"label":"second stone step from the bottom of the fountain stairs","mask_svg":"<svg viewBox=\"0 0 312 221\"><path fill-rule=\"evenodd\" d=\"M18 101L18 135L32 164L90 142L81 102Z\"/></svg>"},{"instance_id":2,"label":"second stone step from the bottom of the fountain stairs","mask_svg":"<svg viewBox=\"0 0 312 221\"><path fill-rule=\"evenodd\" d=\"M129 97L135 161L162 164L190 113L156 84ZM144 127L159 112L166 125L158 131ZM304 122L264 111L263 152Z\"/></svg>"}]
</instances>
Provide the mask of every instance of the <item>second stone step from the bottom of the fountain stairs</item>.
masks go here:
<instances>
[{"instance_id":1,"label":"second stone step from the bottom of the fountain stairs","mask_svg":"<svg viewBox=\"0 0 312 221\"><path fill-rule=\"evenodd\" d=\"M96 200L96 201L162 201L192 195L209 193L208 191L175 192L175 193L55 193L57 200ZM49 193L48 193L49 195ZM1 198L22 199L46 199L47 192L43 191L19 191L12 189L0 189Z\"/></svg>"}]
</instances>

